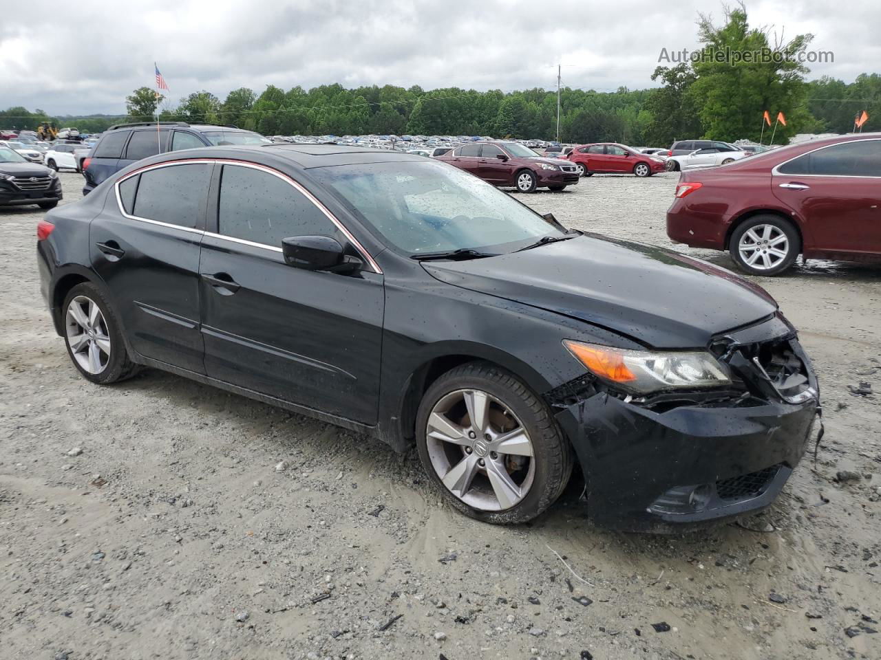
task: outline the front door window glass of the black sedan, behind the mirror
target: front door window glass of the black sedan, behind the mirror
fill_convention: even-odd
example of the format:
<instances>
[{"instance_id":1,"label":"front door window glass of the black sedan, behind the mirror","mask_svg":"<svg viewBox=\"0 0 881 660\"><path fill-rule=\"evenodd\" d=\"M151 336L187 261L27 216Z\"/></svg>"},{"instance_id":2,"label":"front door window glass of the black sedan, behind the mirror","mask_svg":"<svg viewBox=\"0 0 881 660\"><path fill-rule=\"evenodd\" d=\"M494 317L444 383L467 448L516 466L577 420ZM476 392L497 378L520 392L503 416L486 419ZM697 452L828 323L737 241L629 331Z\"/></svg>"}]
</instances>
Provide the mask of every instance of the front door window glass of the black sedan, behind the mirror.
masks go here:
<instances>
[{"instance_id":1,"label":"front door window glass of the black sedan, behind the mirror","mask_svg":"<svg viewBox=\"0 0 881 660\"><path fill-rule=\"evenodd\" d=\"M218 231L264 246L292 236L335 236L337 227L286 180L250 167L224 165Z\"/></svg>"}]
</instances>

